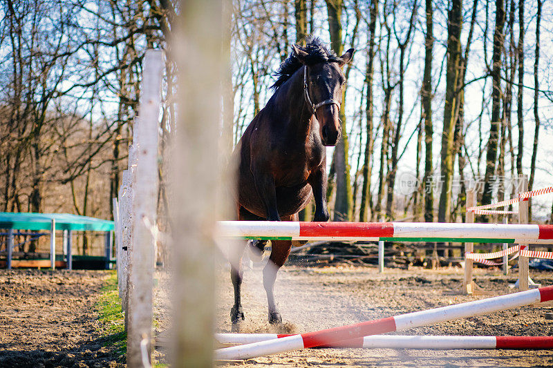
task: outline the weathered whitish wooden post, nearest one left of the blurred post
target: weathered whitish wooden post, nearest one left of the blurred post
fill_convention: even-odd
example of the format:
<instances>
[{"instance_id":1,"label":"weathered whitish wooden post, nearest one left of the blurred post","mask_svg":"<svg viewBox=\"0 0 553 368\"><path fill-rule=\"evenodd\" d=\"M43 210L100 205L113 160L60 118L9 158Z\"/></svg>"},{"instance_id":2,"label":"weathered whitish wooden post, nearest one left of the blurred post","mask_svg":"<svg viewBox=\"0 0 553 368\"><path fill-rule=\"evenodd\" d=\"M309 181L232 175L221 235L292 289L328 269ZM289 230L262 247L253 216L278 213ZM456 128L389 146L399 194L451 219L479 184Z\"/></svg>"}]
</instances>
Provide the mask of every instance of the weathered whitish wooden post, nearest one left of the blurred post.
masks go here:
<instances>
[{"instance_id":1,"label":"weathered whitish wooden post, nearest one left of the blurred post","mask_svg":"<svg viewBox=\"0 0 553 368\"><path fill-rule=\"evenodd\" d=\"M151 229L148 229L144 223L144 218L147 218L151 224L156 223L163 64L161 50L146 51L140 94L140 115L134 126L133 144L136 144L137 149L126 350L126 362L129 367L142 367L145 364L144 356L151 361L154 238Z\"/></svg>"}]
</instances>

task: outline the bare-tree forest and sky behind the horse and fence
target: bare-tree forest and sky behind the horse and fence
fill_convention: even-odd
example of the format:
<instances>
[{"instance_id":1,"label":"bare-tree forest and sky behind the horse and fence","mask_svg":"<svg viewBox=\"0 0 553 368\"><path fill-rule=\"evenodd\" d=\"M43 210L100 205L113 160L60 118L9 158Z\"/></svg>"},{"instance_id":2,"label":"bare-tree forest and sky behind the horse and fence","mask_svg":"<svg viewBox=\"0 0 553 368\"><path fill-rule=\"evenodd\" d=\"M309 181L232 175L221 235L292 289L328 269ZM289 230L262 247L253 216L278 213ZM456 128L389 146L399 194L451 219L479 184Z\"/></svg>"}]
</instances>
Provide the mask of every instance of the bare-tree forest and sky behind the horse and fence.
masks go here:
<instances>
[{"instance_id":1,"label":"bare-tree forest and sky behind the horse and fence","mask_svg":"<svg viewBox=\"0 0 553 368\"><path fill-rule=\"evenodd\" d=\"M178 2L0 1L0 211L111 218L147 48L167 52L161 155L174 132L167 40ZM488 204L517 193L519 175L530 189L553 184L553 1L228 0L224 8L213 21L225 24L219 107L233 145L272 95L292 43L314 35L338 55L356 49L344 67L344 134L327 151L332 220L462 222L469 188ZM165 183L165 165L158 175ZM159 195L165 213L165 185ZM308 206L301 217L310 215ZM532 200L530 218L553 222L552 195Z\"/></svg>"}]
</instances>

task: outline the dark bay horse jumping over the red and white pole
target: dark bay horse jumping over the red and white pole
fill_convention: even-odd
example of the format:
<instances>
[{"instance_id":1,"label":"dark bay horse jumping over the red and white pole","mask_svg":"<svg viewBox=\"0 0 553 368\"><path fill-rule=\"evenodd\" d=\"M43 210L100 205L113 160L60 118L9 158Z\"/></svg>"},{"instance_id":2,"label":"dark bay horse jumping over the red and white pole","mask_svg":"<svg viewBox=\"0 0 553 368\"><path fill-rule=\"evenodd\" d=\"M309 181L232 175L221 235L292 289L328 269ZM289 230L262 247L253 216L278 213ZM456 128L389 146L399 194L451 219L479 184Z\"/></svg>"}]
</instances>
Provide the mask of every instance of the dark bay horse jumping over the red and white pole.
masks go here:
<instances>
[{"instance_id":1,"label":"dark bay horse jumping over the red and white pole","mask_svg":"<svg viewBox=\"0 0 553 368\"><path fill-rule=\"evenodd\" d=\"M234 150L238 160L238 220L297 221L297 213L315 197L314 221L328 221L326 208L326 148L341 135L339 108L346 78L341 67L353 57L353 48L338 57L317 38L305 47L292 46L290 57L276 72L274 95L247 126ZM252 248L263 251L266 240ZM269 322L282 322L274 302L277 271L292 242L273 240L263 286L269 304ZM240 289L245 246L231 255L234 286L233 325L244 319Z\"/></svg>"}]
</instances>

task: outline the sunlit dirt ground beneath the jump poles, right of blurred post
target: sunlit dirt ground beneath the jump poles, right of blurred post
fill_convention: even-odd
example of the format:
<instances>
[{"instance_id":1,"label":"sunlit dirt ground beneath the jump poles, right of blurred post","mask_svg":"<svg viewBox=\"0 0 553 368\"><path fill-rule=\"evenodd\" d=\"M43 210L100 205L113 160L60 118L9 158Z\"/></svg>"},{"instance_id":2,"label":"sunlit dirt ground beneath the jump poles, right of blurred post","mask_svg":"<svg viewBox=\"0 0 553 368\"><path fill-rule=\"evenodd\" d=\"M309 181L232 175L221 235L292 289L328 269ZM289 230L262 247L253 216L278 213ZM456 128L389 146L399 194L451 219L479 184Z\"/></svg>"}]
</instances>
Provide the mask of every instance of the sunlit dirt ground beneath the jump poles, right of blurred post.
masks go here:
<instances>
[{"instance_id":1,"label":"sunlit dirt ground beneath the jump poles, right of blurred post","mask_svg":"<svg viewBox=\"0 0 553 368\"><path fill-rule=\"evenodd\" d=\"M515 271L516 272L516 271ZM218 291L217 331L230 332L232 284L229 269L221 267ZM476 282L498 296L514 292L509 282L516 274L475 270ZM553 273L530 270L535 282L553 284ZM489 296L447 295L462 285L461 269L386 269L373 267L283 267L275 286L284 326L274 329L267 321L267 302L261 266L245 271L243 309L245 333L303 333L375 318L420 311ZM550 336L552 302L536 304L489 316L478 316L409 331L403 335ZM245 361L222 362L239 367L536 367L553 366L551 351L524 350L414 350L414 349L309 349Z\"/></svg>"}]
</instances>

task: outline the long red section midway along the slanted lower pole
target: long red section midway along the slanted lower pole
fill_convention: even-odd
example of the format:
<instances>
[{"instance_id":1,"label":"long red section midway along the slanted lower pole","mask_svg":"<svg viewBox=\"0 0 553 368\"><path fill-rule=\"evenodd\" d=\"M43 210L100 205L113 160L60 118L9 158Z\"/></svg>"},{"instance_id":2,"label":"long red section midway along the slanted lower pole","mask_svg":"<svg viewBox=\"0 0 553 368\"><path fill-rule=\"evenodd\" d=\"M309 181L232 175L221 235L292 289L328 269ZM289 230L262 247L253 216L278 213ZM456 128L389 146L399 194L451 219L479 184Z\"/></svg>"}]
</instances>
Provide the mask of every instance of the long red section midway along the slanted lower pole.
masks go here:
<instances>
[{"instance_id":1,"label":"long red section midway along the slanted lower pole","mask_svg":"<svg viewBox=\"0 0 553 368\"><path fill-rule=\"evenodd\" d=\"M393 317L388 317L323 331L302 333L301 337L303 338L303 347L307 348L328 345L328 342L341 342L392 331L395 331L395 320Z\"/></svg>"}]
</instances>

